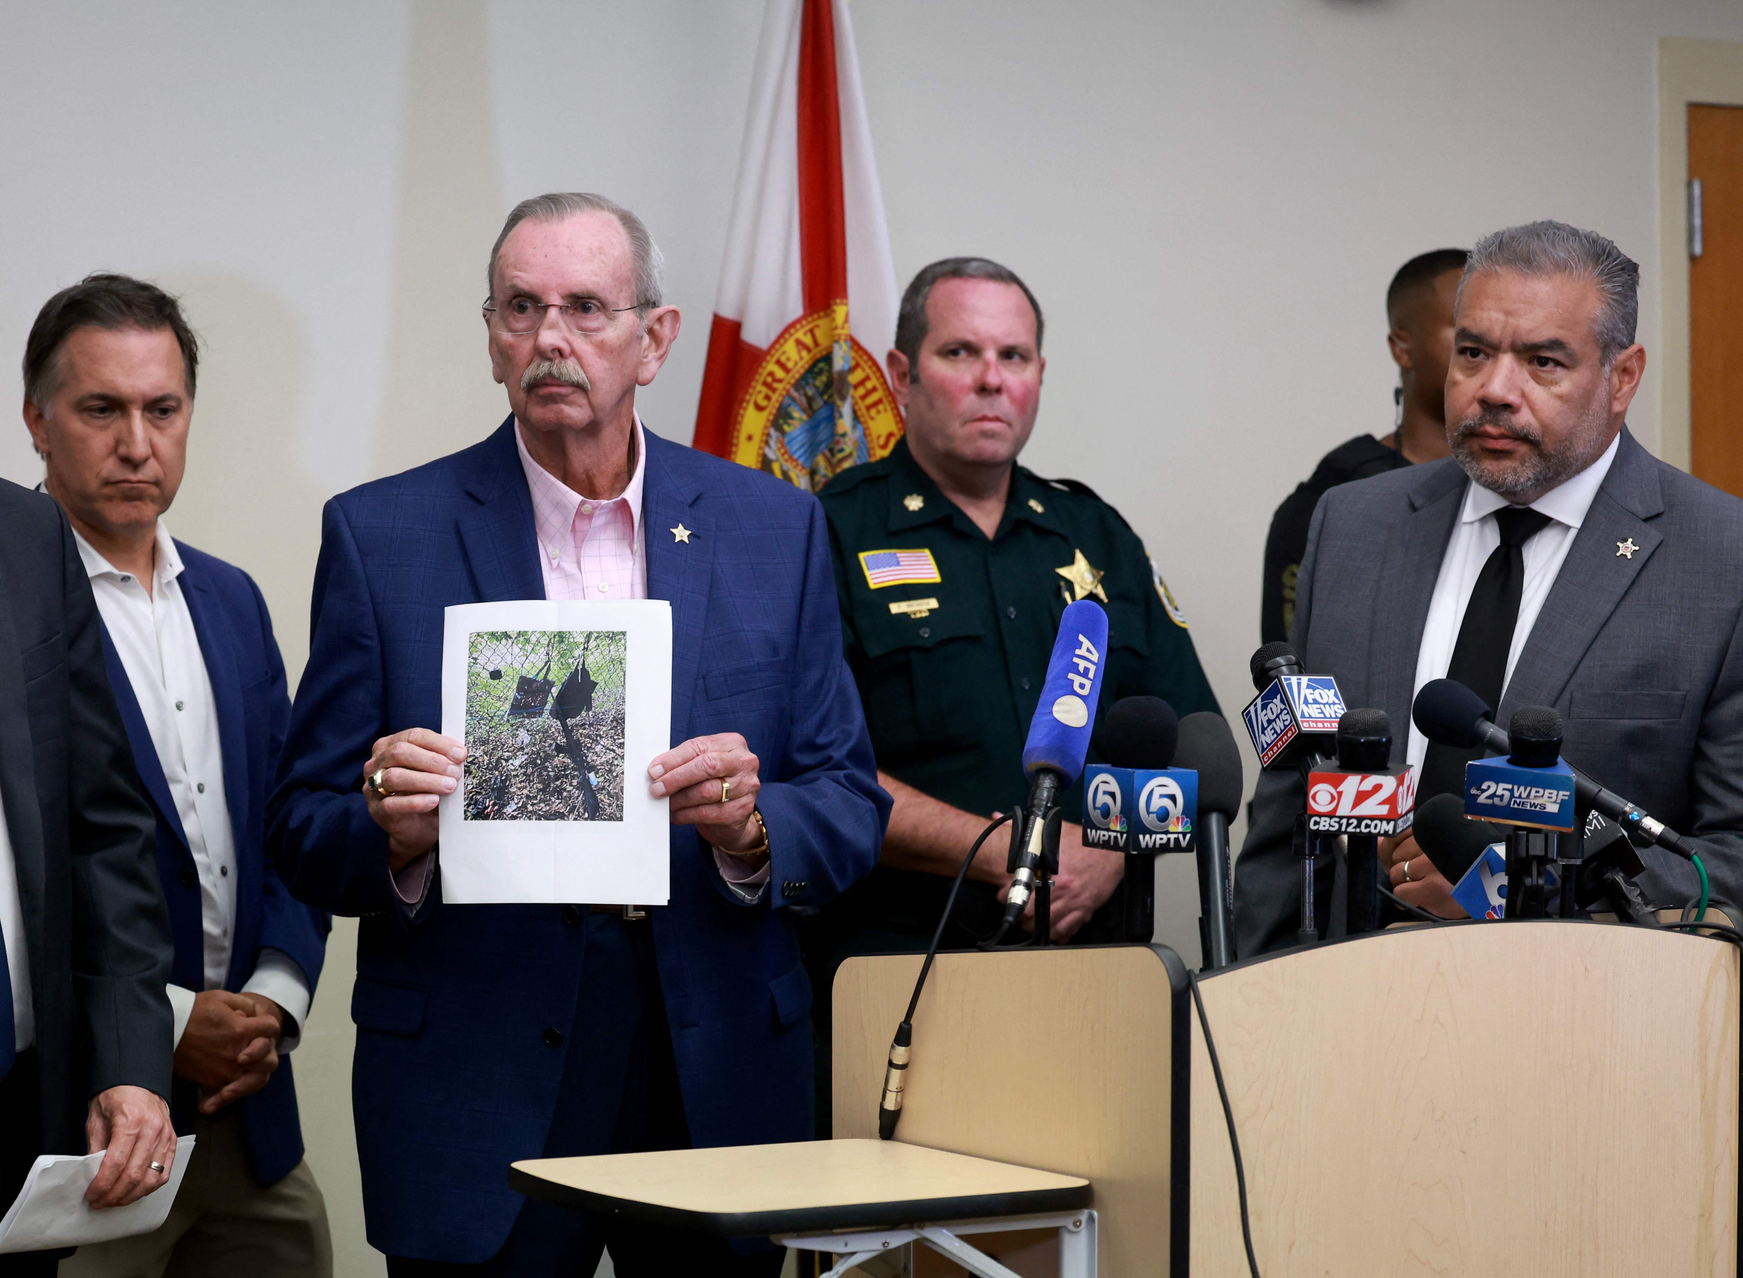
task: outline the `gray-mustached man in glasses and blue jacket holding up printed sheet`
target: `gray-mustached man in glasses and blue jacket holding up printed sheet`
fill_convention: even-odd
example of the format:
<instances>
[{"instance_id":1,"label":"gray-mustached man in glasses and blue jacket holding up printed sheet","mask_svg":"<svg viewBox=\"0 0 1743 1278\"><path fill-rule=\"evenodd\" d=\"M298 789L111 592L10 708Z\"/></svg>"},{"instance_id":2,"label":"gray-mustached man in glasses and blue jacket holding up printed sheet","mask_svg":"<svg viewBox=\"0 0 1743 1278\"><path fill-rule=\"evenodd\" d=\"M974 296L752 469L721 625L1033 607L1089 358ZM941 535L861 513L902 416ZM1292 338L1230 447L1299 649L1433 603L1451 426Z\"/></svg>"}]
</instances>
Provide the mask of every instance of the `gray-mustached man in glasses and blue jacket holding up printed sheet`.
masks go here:
<instances>
[{"instance_id":1,"label":"gray-mustached man in glasses and blue jacket holding up printed sheet","mask_svg":"<svg viewBox=\"0 0 1743 1278\"><path fill-rule=\"evenodd\" d=\"M842 659L816 499L645 431L678 333L659 251L598 195L519 204L490 260L488 439L326 507L270 806L291 889L361 914L352 1074L390 1275L777 1273L762 1247L525 1203L512 1159L802 1140L810 985L786 905L877 861L889 797ZM444 905L443 608L671 602L669 903ZM645 776L640 769L647 769Z\"/></svg>"}]
</instances>

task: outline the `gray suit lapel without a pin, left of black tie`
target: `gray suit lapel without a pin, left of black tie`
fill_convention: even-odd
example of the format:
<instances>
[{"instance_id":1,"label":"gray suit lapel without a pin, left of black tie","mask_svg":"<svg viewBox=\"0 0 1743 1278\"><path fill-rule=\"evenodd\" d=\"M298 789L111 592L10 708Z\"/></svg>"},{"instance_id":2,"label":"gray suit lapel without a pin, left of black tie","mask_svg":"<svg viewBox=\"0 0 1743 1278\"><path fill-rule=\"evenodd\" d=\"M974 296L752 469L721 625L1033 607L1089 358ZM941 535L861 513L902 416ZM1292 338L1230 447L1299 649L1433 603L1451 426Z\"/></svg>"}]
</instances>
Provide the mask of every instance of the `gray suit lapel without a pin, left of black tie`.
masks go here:
<instances>
[{"instance_id":1,"label":"gray suit lapel without a pin, left of black tie","mask_svg":"<svg viewBox=\"0 0 1743 1278\"><path fill-rule=\"evenodd\" d=\"M1400 535L1386 549L1386 568L1373 607L1389 621L1373 626L1373 704L1391 717L1393 739L1403 743L1410 732L1410 701L1415 692L1417 649L1428 624L1447 542L1464 502L1464 472L1452 462L1434 464L1434 471L1410 490L1410 514Z\"/></svg>"}]
</instances>

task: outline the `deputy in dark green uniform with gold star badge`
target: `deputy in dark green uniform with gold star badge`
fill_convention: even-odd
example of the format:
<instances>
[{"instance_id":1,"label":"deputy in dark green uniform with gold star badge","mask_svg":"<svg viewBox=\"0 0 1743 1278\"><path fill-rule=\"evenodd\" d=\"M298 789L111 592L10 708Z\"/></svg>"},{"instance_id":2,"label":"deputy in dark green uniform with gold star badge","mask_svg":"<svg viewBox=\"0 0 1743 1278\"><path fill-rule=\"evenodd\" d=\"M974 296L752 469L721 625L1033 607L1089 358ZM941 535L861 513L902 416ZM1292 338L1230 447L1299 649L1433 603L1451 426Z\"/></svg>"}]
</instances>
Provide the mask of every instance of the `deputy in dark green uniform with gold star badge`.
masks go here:
<instances>
[{"instance_id":1,"label":"deputy in dark green uniform with gold star badge","mask_svg":"<svg viewBox=\"0 0 1743 1278\"><path fill-rule=\"evenodd\" d=\"M1217 710L1136 534L1084 485L1016 464L1041 404L1041 305L1013 272L985 258L929 265L889 352L906 438L821 492L847 661L896 806L878 868L809 928L819 994L842 954L924 948L976 835L1023 800L1023 739L1067 603L1107 608L1100 713L1135 694L1182 715ZM1082 846L1081 807L1074 786L1053 938L1112 940L1124 860ZM946 945L997 926L1006 851L987 840Z\"/></svg>"}]
</instances>

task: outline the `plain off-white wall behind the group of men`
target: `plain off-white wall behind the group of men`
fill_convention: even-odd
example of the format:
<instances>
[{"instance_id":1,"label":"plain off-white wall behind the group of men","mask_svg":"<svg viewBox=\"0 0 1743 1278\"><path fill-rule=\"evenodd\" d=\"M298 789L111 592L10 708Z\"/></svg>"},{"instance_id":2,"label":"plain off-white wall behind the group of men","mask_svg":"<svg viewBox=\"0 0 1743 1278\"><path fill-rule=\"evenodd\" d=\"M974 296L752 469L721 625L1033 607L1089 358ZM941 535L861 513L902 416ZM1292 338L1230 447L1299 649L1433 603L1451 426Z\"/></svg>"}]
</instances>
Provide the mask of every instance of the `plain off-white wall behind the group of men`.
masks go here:
<instances>
[{"instance_id":1,"label":"plain off-white wall behind the group of men","mask_svg":"<svg viewBox=\"0 0 1743 1278\"><path fill-rule=\"evenodd\" d=\"M293 671L319 506L505 411L478 302L507 206L594 188L661 239L687 317L645 394L685 439L756 0L0 9L0 352L92 269L180 291L207 340L178 535L249 568ZM1389 422L1382 293L1407 256L1556 216L1645 270L1658 336L1654 42L1743 38L1734 0L858 0L903 281L1020 270L1049 319L1025 462L1147 540L1229 711L1271 509ZM1658 439L1652 382L1635 413ZM23 425L0 474L35 483ZM1189 957L1171 865L1163 938ZM1187 874L1182 874L1187 872ZM345 1273L350 929L298 1051Z\"/></svg>"}]
</instances>

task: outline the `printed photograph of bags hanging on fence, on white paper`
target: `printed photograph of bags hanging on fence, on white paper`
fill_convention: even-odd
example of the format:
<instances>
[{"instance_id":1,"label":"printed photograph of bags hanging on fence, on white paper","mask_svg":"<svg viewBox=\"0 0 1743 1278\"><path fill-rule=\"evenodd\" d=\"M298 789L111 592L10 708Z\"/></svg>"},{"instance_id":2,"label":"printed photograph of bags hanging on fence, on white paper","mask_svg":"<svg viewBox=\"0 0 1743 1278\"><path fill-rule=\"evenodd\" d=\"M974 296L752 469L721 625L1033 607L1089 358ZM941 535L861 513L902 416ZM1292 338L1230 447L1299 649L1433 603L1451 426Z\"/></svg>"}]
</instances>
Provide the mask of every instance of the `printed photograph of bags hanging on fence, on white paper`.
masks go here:
<instances>
[{"instance_id":1,"label":"printed photograph of bags hanging on fence, on white paper","mask_svg":"<svg viewBox=\"0 0 1743 1278\"><path fill-rule=\"evenodd\" d=\"M621 629L474 631L465 671L467 821L622 821Z\"/></svg>"}]
</instances>

